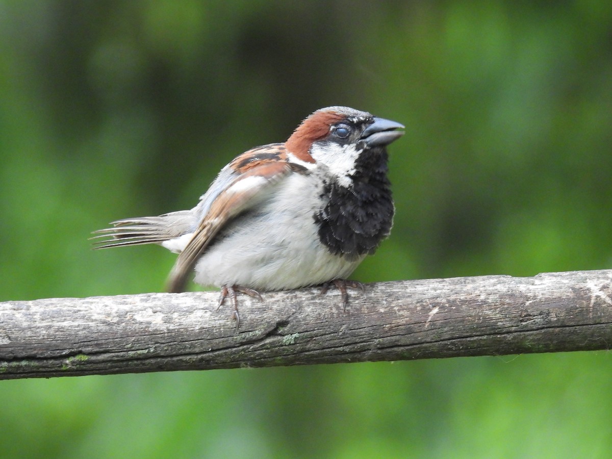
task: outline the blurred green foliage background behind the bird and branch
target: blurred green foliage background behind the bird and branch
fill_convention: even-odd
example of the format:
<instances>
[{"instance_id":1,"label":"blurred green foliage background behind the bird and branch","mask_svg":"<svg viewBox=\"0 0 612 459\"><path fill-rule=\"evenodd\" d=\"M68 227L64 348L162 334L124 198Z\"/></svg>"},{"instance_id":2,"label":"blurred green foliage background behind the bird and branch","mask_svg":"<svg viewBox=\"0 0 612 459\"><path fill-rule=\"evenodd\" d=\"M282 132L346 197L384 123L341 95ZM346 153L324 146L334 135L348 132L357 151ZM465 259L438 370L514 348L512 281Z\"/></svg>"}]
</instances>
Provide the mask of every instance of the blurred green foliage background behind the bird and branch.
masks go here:
<instances>
[{"instance_id":1,"label":"blurred green foliage background behind the bird and branch","mask_svg":"<svg viewBox=\"0 0 612 459\"><path fill-rule=\"evenodd\" d=\"M406 125L365 281L612 267L612 2L0 1L0 300L160 291L93 252L349 105ZM3 457L609 457L608 352L0 381Z\"/></svg>"}]
</instances>

